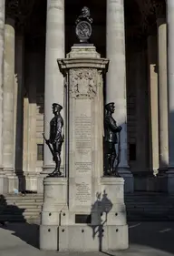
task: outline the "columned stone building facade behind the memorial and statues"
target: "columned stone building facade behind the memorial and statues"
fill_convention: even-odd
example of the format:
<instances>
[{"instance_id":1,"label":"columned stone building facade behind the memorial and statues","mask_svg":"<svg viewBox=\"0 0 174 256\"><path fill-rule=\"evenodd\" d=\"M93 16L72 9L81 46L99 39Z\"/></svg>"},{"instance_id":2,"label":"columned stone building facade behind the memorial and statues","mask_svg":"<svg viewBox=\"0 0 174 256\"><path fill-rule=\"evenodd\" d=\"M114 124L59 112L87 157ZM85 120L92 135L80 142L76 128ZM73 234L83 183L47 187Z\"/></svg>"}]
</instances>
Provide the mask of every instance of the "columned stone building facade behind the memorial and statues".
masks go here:
<instances>
[{"instance_id":1,"label":"columned stone building facade behind the memorial and statues","mask_svg":"<svg viewBox=\"0 0 174 256\"><path fill-rule=\"evenodd\" d=\"M123 128L126 191L172 193L173 0L0 0L0 192L42 192L53 169L42 133L48 137L52 103L65 102L57 58L78 43L83 5L94 21L92 43L110 59L104 97Z\"/></svg>"}]
</instances>

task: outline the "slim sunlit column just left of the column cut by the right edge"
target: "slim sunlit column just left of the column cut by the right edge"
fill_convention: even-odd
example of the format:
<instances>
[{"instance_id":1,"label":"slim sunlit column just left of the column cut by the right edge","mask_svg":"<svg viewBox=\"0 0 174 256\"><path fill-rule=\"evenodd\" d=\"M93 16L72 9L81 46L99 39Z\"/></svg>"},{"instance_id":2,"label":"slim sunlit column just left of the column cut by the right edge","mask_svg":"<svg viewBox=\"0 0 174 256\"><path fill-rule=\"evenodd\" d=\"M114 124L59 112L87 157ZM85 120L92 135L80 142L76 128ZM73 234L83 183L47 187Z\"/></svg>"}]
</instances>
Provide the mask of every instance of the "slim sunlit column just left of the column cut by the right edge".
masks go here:
<instances>
[{"instance_id":1,"label":"slim sunlit column just left of the column cut by the right edge","mask_svg":"<svg viewBox=\"0 0 174 256\"><path fill-rule=\"evenodd\" d=\"M168 77L167 77L167 25L166 20L159 18L158 53L159 53L159 151L160 171L169 166L168 138Z\"/></svg>"}]
</instances>

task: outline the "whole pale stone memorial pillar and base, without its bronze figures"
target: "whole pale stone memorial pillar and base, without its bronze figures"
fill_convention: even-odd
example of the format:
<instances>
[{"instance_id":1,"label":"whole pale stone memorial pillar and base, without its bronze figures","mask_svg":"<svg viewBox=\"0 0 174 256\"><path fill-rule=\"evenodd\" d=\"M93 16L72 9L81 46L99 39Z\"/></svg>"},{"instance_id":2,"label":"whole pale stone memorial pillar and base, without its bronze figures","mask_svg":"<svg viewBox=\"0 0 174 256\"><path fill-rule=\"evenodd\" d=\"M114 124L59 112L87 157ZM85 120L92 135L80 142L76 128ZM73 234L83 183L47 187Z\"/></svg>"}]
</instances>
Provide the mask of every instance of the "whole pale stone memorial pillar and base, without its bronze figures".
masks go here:
<instances>
[{"instance_id":1,"label":"whole pale stone memorial pillar and base, without its bronze figures","mask_svg":"<svg viewBox=\"0 0 174 256\"><path fill-rule=\"evenodd\" d=\"M67 179L43 181L40 249L108 251L128 248L124 180L102 178L102 74L107 71L108 62L94 46L73 46L66 59L58 60L66 79Z\"/></svg>"}]
</instances>

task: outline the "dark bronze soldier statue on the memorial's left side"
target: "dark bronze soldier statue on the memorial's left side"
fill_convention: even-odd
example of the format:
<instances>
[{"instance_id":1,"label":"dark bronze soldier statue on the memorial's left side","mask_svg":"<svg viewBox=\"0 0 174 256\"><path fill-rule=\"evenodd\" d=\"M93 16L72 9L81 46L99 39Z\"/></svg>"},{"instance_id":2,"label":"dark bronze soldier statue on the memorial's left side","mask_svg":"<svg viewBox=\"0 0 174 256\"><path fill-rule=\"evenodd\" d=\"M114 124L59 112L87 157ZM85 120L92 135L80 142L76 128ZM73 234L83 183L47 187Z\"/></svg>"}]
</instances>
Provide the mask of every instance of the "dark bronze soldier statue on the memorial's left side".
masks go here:
<instances>
[{"instance_id":1,"label":"dark bronze soldier statue on the memorial's left side","mask_svg":"<svg viewBox=\"0 0 174 256\"><path fill-rule=\"evenodd\" d=\"M63 118L60 114L63 107L57 103L53 103L53 119L50 121L50 138L45 139L46 144L53 154L53 161L55 162L55 169L49 175L50 177L61 176L61 149L63 145ZM52 146L51 146L52 145Z\"/></svg>"}]
</instances>

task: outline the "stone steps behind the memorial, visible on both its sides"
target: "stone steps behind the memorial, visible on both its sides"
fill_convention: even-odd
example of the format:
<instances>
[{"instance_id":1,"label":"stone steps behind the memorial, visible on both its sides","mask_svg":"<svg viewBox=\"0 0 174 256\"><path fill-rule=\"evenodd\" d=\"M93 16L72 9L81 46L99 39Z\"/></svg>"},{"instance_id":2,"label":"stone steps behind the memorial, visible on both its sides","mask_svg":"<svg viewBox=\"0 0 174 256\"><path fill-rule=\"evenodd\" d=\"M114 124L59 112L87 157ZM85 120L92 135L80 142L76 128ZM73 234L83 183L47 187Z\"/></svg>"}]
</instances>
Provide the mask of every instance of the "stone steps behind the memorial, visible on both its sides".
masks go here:
<instances>
[{"instance_id":1,"label":"stone steps behind the memorial, visible on both its sides","mask_svg":"<svg viewBox=\"0 0 174 256\"><path fill-rule=\"evenodd\" d=\"M174 196L135 193L125 196L125 204L129 221L174 220ZM7 195L0 206L0 220L40 223L42 205L43 195Z\"/></svg>"}]
</instances>

